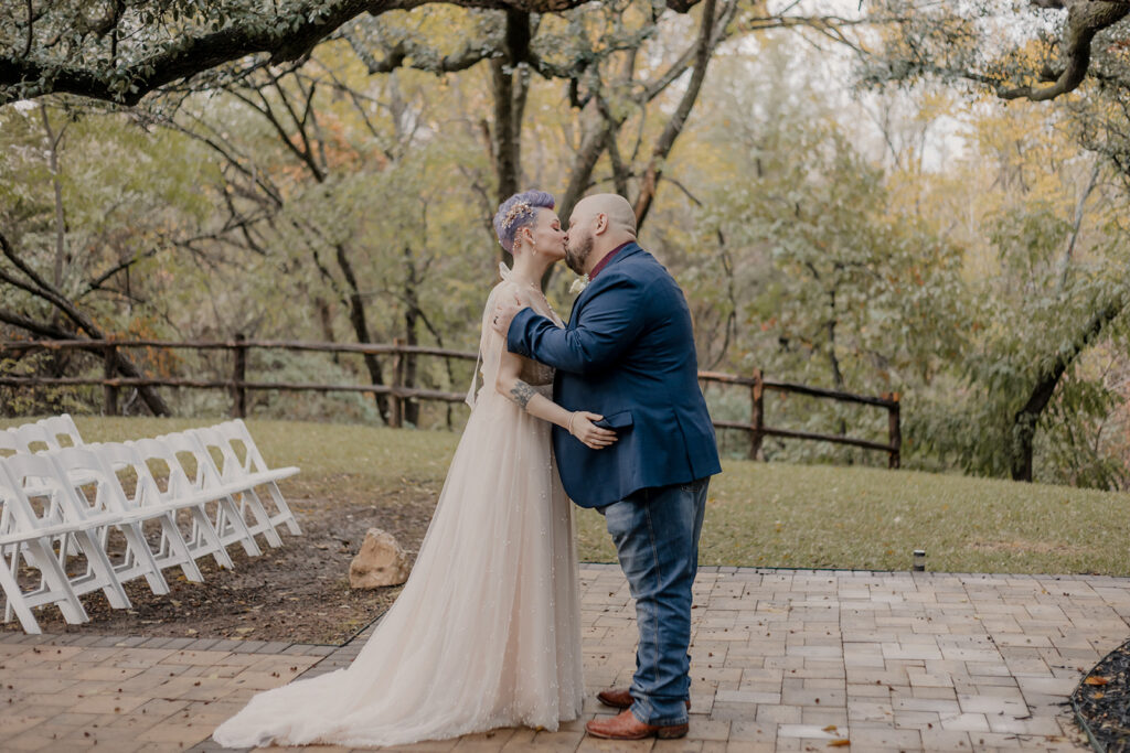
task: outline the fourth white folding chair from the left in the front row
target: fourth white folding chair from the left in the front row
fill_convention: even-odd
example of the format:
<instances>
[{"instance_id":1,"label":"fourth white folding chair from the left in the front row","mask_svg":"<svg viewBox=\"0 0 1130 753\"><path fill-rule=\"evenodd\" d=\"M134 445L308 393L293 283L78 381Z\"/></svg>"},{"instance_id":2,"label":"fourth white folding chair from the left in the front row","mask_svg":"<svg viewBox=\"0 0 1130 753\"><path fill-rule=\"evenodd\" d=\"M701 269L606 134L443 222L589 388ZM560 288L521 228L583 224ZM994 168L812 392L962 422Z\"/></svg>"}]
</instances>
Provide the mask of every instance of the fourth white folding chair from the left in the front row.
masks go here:
<instances>
[{"instance_id":1,"label":"fourth white folding chair from the left in the front row","mask_svg":"<svg viewBox=\"0 0 1130 753\"><path fill-rule=\"evenodd\" d=\"M119 443L87 445L87 447L116 481L120 500L124 505L123 517L127 520L136 520L142 527L146 523L156 523L159 526L160 543L153 553L157 567L162 570L180 567L185 579L202 581L205 578L197 567L195 558L176 525L176 514L181 505L162 499L159 487L137 449ZM132 494L127 491L129 482L133 484ZM202 517L207 522L207 516ZM218 537L216 541L219 543Z\"/></svg>"}]
</instances>

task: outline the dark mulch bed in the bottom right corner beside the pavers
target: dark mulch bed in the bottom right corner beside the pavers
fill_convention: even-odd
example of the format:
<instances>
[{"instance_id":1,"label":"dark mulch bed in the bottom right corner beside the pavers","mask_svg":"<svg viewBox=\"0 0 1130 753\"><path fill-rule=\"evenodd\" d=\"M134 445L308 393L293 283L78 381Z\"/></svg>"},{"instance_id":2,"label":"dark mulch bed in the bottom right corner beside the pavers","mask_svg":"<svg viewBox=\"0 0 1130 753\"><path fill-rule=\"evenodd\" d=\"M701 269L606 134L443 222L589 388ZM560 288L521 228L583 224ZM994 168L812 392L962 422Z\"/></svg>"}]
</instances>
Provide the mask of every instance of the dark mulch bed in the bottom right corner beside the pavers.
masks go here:
<instances>
[{"instance_id":1,"label":"dark mulch bed in the bottom right corner beside the pavers","mask_svg":"<svg viewBox=\"0 0 1130 753\"><path fill-rule=\"evenodd\" d=\"M1071 694L1071 706L1095 750L1130 751L1130 640L1083 678Z\"/></svg>"}]
</instances>

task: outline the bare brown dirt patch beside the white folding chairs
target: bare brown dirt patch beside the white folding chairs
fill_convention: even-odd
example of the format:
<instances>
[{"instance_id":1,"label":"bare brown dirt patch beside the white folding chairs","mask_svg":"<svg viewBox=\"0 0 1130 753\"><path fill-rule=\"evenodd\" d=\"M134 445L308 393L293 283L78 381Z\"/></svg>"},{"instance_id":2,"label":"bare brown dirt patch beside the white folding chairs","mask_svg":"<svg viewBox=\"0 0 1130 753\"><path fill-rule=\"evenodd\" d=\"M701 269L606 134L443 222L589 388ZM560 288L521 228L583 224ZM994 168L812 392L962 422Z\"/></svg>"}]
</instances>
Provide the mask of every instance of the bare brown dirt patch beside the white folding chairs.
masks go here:
<instances>
[{"instance_id":1,"label":"bare brown dirt patch beside the white folding chairs","mask_svg":"<svg viewBox=\"0 0 1130 753\"><path fill-rule=\"evenodd\" d=\"M325 488L324 485L322 487ZM346 642L376 619L400 593L400 586L349 589L349 561L368 528L392 533L415 560L435 509L438 489L412 485L380 492L367 501L292 498L302 535L280 529L282 546L249 557L228 546L234 570L211 558L197 561L203 583L190 583L179 568L164 571L169 593L156 596L141 579L125 585L132 608L114 610L101 594L82 597L90 621L67 624L54 606L36 610L44 632L90 632L110 636L238 638L297 643ZM2 625L21 631L18 621Z\"/></svg>"}]
</instances>

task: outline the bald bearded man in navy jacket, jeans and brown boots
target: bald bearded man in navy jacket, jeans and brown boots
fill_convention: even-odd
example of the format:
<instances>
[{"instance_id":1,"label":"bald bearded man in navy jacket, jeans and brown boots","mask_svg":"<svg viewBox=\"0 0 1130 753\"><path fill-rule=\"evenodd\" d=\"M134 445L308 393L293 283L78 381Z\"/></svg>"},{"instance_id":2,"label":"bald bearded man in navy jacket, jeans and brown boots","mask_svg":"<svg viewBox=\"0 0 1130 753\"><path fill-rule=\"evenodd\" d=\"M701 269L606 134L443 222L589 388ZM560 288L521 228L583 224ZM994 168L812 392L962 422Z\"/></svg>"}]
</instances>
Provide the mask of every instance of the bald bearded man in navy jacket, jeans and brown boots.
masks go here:
<instances>
[{"instance_id":1,"label":"bald bearded man in navy jacket, jeans and brown boots","mask_svg":"<svg viewBox=\"0 0 1130 753\"><path fill-rule=\"evenodd\" d=\"M557 369L554 401L605 418L611 447L592 450L554 427L565 491L605 516L636 599L640 643L629 689L601 692L624 711L593 719L612 739L683 737L690 689L690 587L710 476L714 428L697 380L690 312L678 284L636 243L635 213L616 194L573 210L565 263L589 283L563 330L530 308L503 304L494 327L512 352Z\"/></svg>"}]
</instances>

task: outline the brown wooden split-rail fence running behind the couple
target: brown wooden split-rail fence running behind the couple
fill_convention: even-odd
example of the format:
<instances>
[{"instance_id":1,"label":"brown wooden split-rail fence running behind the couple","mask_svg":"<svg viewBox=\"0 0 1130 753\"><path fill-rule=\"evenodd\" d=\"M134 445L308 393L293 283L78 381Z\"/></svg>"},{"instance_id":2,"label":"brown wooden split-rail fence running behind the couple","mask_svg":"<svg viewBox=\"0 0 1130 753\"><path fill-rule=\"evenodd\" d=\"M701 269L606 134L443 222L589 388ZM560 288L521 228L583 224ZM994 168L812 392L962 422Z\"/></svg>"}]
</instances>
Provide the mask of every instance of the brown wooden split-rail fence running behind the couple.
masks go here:
<instances>
[{"instance_id":1,"label":"brown wooden split-rail fence running behind the couple","mask_svg":"<svg viewBox=\"0 0 1130 753\"><path fill-rule=\"evenodd\" d=\"M119 349L183 349L183 350L227 350L233 353L232 377L229 379L193 379L182 377L122 377L118 376L118 350ZM247 380L247 352L252 349L263 350L294 350L315 351L328 353L358 353L373 356L390 356L392 358L392 382L391 384L311 384L293 382L249 382ZM441 401L449 403L462 402L464 393L444 392L438 389L421 389L419 387L405 385L406 357L428 356L444 359L457 359L475 361L477 353L446 350L443 348L427 348L420 345L408 345L400 340L391 344L385 343L334 343L334 342L297 342L285 340L246 340L236 336L233 340L212 342L173 342L164 340L35 340L35 341L3 341L0 342L0 361L10 353L27 350L81 350L101 353L103 356L102 377L18 377L8 376L0 373L0 386L7 387L62 387L62 386L92 386L102 385L103 388L103 411L107 415L118 413L119 393L123 388L130 387L181 387L191 389L226 389L232 395L232 415L244 418L247 410L247 393L252 391L279 389L286 392L360 392L370 394L384 394L390 397L389 423L400 427L405 415L405 403L409 400L418 401ZM811 441L832 443L836 445L847 445L861 447L863 449L877 450L887 454L887 465L897 469L901 461L902 432L899 428L899 402L898 393L887 393L879 397L867 395L854 395L835 389L822 387L810 387L802 384L789 382L774 382L763 377L759 369L754 369L750 376L734 376L731 374L719 374L715 371L699 371L698 379L703 383L715 383L723 385L734 385L744 387L750 392L750 417L749 421L723 421L715 420L714 426L720 429L737 429L748 432L750 436L749 457L756 458L762 449L762 444L766 437L781 437L784 439L803 439ZM868 439L859 439L844 435L814 434L809 431L794 431L792 429L781 429L765 426L765 393L777 392L782 394L807 395L822 400L832 400L858 405L871 405L887 411L888 440L886 444Z\"/></svg>"}]
</instances>

